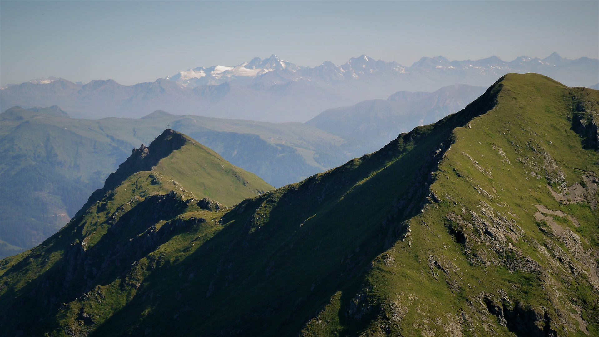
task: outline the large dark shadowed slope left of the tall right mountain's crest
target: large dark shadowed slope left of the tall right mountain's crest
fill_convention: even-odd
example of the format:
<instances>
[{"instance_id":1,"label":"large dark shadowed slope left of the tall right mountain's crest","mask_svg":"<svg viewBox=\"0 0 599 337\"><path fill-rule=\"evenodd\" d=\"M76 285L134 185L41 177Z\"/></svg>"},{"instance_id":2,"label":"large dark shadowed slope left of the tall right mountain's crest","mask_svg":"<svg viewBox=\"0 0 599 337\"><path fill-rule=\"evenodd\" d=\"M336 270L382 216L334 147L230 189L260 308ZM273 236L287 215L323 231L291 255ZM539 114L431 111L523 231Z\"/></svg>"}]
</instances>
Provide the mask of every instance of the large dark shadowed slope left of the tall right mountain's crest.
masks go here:
<instances>
[{"instance_id":1,"label":"large dark shadowed slope left of the tall right mountain's crest","mask_svg":"<svg viewBox=\"0 0 599 337\"><path fill-rule=\"evenodd\" d=\"M295 335L340 290L343 333L352 335L374 314L346 315L371 261L405 235L405 220L429 202L429 173L452 144L453 128L494 107L497 91L359 161L241 202L201 247L152 270L147 287L95 335L115 326L126 334L153 335L160 328ZM152 300L156 292L164 302Z\"/></svg>"}]
</instances>

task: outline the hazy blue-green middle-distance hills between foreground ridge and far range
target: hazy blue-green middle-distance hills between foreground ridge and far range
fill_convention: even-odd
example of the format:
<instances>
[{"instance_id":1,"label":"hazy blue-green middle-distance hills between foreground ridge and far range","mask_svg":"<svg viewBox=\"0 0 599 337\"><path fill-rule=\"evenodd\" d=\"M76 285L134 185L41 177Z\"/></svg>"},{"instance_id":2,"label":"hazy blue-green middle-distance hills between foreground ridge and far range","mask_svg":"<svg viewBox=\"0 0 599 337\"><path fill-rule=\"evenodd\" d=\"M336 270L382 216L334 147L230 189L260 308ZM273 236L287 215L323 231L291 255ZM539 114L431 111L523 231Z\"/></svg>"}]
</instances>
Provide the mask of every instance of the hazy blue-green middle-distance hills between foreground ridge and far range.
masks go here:
<instances>
[{"instance_id":1,"label":"hazy blue-green middle-distance hills between foreground ridge and far range","mask_svg":"<svg viewBox=\"0 0 599 337\"><path fill-rule=\"evenodd\" d=\"M389 102L397 106L385 118L372 118L385 115L383 107L354 111L350 119L358 123L333 120L332 125L341 125L343 132L338 126L326 127L331 126L326 111L321 118L325 123L317 126L328 131L304 123L176 116L165 111L141 119L84 120L63 118L69 116L56 106L10 108L0 114L0 155L6 158L0 163L0 239L8 244L0 245L0 257L33 247L55 233L131 148L149 144L167 126L280 187L382 147L401 130L422 124L422 111L430 122L458 111L478 96L473 93L479 89L455 85L436 93L400 92L397 95L406 96L404 102ZM340 113L347 109L352 107ZM412 117L402 117L408 115ZM365 130L360 122L364 120Z\"/></svg>"}]
</instances>

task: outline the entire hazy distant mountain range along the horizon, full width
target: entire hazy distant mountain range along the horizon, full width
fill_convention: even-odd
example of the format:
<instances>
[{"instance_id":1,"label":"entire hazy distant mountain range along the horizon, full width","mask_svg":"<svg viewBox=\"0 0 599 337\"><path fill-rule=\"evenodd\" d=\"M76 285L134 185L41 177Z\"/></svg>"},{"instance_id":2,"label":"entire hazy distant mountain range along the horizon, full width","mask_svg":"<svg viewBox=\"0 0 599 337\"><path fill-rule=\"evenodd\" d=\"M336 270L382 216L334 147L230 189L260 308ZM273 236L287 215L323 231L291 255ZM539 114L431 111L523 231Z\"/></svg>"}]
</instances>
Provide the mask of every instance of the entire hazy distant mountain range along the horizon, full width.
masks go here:
<instances>
[{"instance_id":1,"label":"entire hazy distant mountain range along the horizon, full width","mask_svg":"<svg viewBox=\"0 0 599 337\"><path fill-rule=\"evenodd\" d=\"M544 59L521 56L512 62L498 57L449 61L423 57L412 66L362 55L341 66L324 62L314 68L271 56L236 66L181 71L153 83L123 86L113 80L72 83L40 78L0 90L2 110L58 105L72 117L141 117L155 110L176 114L265 122L306 122L323 110L369 99L385 99L398 91L432 92L455 83L488 87L509 72L537 72L567 86L599 81L599 60Z\"/></svg>"}]
</instances>

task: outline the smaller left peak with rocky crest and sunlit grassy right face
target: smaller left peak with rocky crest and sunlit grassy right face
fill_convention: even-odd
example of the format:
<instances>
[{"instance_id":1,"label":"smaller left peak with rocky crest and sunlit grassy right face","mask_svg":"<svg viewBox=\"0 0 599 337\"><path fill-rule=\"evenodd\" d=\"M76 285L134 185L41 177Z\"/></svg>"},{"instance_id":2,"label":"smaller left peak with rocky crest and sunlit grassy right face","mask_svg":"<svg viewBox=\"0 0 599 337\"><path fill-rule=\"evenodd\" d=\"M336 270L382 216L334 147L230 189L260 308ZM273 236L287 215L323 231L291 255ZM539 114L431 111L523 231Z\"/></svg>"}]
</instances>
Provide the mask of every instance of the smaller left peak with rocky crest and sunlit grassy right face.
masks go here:
<instances>
[{"instance_id":1,"label":"smaller left peak with rocky crest and sunlit grassy right face","mask_svg":"<svg viewBox=\"0 0 599 337\"><path fill-rule=\"evenodd\" d=\"M120 184L102 190L105 195L101 200L94 202L40 246L0 262L0 277L5 276L0 286L3 321L0 324L4 333L13 335L19 331L9 323L14 320L13 315L23 322L36 322L34 331L28 330L26 334L41 334L53 326L46 314L22 315L24 311L35 312L35 308L40 306L37 300L31 301L34 293L46 298L42 307L56 309L60 304L56 302L58 299L77 296L92 283L110 286L120 281L117 277L130 268L140 254L143 256L144 252L153 250L149 250L150 247L156 248L162 241L171 239L178 227L184 228L191 222L193 226L200 227L201 232L210 235L213 230L207 227L219 227L214 217L219 212L222 215L222 211L198 207L199 199L211 196L225 205L232 205L272 189L256 175L231 165L193 139L167 131L150 144L149 153L158 151L164 144L166 148L171 144L178 145L167 153L168 156L159 159L151 171L137 171L120 181L118 174L125 169L122 166L116 176L111 176L116 177ZM126 221L120 218L125 212ZM165 224L164 220L172 218L173 221ZM192 220L177 223L180 219L189 218ZM155 226L150 226L150 229L144 227L141 233L137 232L148 221ZM84 265L81 253L86 254ZM92 261L101 263L93 264ZM90 265L93 265L92 270L89 270ZM8 272L8 277L5 272ZM120 289L119 284L116 283L117 289ZM111 306L118 303L119 298ZM9 330L11 332L7 332Z\"/></svg>"}]
</instances>

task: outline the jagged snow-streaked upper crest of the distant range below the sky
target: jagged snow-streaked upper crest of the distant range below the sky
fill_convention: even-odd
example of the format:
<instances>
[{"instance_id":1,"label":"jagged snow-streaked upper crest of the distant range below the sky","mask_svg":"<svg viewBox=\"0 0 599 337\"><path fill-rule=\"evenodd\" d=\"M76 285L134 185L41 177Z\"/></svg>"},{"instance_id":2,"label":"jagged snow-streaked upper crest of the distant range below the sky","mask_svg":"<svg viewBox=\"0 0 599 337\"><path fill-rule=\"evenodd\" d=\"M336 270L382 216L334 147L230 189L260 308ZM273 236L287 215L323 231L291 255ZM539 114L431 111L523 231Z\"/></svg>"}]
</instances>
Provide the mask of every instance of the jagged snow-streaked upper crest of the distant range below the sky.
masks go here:
<instances>
[{"instance_id":1,"label":"jagged snow-streaked upper crest of the distant range below the sky","mask_svg":"<svg viewBox=\"0 0 599 337\"><path fill-rule=\"evenodd\" d=\"M334 81L350 80L376 74L389 74L400 76L414 72L468 72L486 75L501 76L508 72L538 72L539 66L564 66L571 60L564 59L557 53L552 53L545 59L528 56L516 57L512 62L491 56L480 60L453 60L443 56L422 57L412 66L403 66L397 62L385 62L362 54L350 58L346 63L335 66L331 62L324 62L314 68L298 66L294 63L280 59L272 54L266 59L255 57L249 62L236 66L216 65L210 68L193 68L181 71L179 74L166 79L176 81L180 86L197 87L200 85L218 85L229 81L242 83L281 84L289 81L321 81L332 83ZM272 73L271 73L272 72ZM270 73L270 74L268 74ZM268 74L268 75L265 75Z\"/></svg>"}]
</instances>

